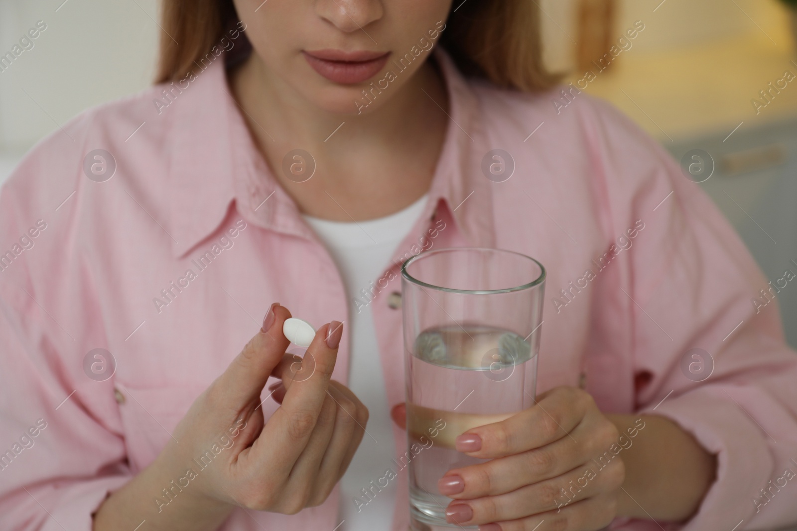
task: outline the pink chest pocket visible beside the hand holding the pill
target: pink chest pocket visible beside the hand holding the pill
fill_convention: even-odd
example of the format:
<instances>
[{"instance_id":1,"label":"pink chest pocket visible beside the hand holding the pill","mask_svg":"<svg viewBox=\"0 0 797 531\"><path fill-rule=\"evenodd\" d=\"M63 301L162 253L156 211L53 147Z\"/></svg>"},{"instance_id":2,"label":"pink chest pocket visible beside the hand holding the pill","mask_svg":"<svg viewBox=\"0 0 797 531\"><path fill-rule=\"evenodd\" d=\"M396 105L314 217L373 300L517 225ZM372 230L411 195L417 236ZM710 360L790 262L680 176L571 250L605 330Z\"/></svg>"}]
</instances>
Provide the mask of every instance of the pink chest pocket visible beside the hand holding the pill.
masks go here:
<instances>
[{"instance_id":1,"label":"pink chest pocket visible beside the hand holding the pill","mask_svg":"<svg viewBox=\"0 0 797 531\"><path fill-rule=\"evenodd\" d=\"M116 381L128 461L134 472L147 467L158 456L188 408L206 385L178 384L167 387L136 387ZM176 440L176 439L175 439Z\"/></svg>"}]
</instances>

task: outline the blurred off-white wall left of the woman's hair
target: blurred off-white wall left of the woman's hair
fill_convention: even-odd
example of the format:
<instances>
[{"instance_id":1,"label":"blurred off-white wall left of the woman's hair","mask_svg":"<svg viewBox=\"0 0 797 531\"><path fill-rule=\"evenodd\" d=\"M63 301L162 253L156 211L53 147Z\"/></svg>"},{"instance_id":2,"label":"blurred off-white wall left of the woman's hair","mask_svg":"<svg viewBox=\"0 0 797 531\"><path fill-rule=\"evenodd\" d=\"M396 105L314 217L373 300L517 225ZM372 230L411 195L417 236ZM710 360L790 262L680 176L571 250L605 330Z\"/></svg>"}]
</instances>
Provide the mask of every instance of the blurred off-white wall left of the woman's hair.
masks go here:
<instances>
[{"instance_id":1,"label":"blurred off-white wall left of the woman's hair","mask_svg":"<svg viewBox=\"0 0 797 531\"><path fill-rule=\"evenodd\" d=\"M37 21L46 24L33 48L0 72L6 160L85 108L147 86L157 18L155 0L0 0L0 56Z\"/></svg>"}]
</instances>

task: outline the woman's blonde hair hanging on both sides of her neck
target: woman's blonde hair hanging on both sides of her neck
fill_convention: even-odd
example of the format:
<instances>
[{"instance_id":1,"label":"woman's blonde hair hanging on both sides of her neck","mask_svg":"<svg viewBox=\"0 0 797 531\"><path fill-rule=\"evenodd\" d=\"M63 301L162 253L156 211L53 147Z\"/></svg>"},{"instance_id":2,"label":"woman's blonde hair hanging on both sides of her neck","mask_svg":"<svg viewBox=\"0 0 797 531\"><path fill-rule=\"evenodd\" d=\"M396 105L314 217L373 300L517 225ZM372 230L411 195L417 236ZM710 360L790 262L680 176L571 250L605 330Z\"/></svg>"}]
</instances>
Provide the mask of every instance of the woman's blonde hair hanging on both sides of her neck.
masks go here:
<instances>
[{"instance_id":1,"label":"woman's blonde hair hanging on both sides of her neck","mask_svg":"<svg viewBox=\"0 0 797 531\"><path fill-rule=\"evenodd\" d=\"M232 0L163 0L162 19L155 83L195 72L198 61L238 23ZM245 34L238 38L248 46ZM546 71L542 61L536 2L467 0L449 14L439 45L465 75L501 88L540 92L559 82L560 76Z\"/></svg>"}]
</instances>

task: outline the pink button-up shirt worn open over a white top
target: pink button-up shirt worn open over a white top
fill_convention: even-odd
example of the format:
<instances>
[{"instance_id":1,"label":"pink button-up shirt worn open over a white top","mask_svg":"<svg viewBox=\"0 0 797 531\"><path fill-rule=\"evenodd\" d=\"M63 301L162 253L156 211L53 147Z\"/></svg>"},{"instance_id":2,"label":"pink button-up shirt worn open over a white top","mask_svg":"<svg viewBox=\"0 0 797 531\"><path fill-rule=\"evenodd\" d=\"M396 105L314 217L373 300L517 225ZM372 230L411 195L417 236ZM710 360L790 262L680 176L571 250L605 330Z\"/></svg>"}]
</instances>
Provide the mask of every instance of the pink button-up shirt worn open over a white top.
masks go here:
<instances>
[{"instance_id":1,"label":"pink button-up shirt worn open over a white top","mask_svg":"<svg viewBox=\"0 0 797 531\"><path fill-rule=\"evenodd\" d=\"M797 357L776 303L756 310L768 281L717 208L607 103L573 89L561 108L559 91L500 90L436 57L451 123L430 201L370 304L390 404L404 400L400 261L430 247L511 249L548 269L539 392L583 374L603 411L668 416L717 452L717 481L684 529L797 521ZM163 89L84 112L2 188L2 529L91 529L273 301L316 326L347 319L340 275L253 144L222 61L167 106ZM513 159L503 182L508 166L492 180L482 170L495 149ZM111 170L100 159L86 164L99 176L84 173L92 150L115 159L109 180L98 182ZM344 335L343 382L348 346ZM112 353L112 377L92 349ZM713 357L705 381L689 373L689 349ZM398 428L395 442L403 454ZM391 529L403 530L406 470L396 481ZM236 509L222 529L334 529L336 498L294 516L250 511L259 525Z\"/></svg>"}]
</instances>

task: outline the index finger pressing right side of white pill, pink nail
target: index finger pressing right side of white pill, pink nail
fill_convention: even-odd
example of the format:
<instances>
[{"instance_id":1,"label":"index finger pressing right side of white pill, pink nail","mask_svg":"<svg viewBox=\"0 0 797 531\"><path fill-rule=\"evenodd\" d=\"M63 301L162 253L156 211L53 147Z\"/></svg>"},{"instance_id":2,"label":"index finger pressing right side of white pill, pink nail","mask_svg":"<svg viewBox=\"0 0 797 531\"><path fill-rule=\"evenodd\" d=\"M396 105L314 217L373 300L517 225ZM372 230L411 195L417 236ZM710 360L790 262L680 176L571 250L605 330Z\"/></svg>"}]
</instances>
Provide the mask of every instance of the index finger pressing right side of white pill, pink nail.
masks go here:
<instances>
[{"instance_id":1,"label":"index finger pressing right side of white pill, pink nail","mask_svg":"<svg viewBox=\"0 0 797 531\"><path fill-rule=\"evenodd\" d=\"M261 435L253 444L252 449L256 454L273 454L275 447L280 448L280 454L284 456L281 466L290 470L293 462L304 451L327 396L342 336L343 323L337 321L321 326L316 332L305 354L305 357L312 356L314 366L312 369L303 366L296 373L298 376L295 375L293 381L287 385L282 405L265 423ZM312 370L312 374L306 377L302 374L304 370Z\"/></svg>"}]
</instances>

